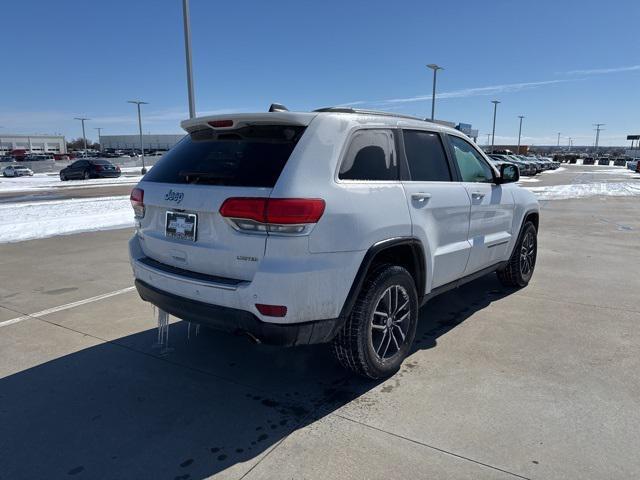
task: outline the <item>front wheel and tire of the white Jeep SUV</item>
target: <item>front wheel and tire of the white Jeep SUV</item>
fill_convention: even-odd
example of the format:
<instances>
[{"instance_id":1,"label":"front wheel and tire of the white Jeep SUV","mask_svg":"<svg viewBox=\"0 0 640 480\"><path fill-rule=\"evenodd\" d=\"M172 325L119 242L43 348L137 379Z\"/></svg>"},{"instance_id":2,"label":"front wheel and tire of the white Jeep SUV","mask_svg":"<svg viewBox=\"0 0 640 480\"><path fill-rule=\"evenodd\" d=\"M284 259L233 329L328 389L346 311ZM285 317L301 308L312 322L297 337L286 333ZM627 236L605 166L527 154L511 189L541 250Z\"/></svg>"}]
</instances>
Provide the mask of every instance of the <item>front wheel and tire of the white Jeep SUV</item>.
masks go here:
<instances>
[{"instance_id":1,"label":"front wheel and tire of the white Jeep SUV","mask_svg":"<svg viewBox=\"0 0 640 480\"><path fill-rule=\"evenodd\" d=\"M498 270L505 287L526 287L533 276L538 256L538 232L533 222L526 222L506 267Z\"/></svg>"}]
</instances>

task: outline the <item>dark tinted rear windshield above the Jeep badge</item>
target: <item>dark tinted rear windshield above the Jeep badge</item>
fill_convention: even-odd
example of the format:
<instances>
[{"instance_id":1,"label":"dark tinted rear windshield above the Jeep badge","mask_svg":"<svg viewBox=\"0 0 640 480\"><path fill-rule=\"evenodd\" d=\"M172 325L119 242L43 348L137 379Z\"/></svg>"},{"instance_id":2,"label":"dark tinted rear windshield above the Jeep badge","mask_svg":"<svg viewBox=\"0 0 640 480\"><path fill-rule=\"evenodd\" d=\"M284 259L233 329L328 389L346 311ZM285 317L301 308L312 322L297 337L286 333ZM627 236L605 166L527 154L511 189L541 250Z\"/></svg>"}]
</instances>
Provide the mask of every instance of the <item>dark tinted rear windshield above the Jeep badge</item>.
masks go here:
<instances>
[{"instance_id":1,"label":"dark tinted rear windshield above the Jeep badge","mask_svg":"<svg viewBox=\"0 0 640 480\"><path fill-rule=\"evenodd\" d=\"M305 127L252 125L187 135L144 181L272 188Z\"/></svg>"}]
</instances>

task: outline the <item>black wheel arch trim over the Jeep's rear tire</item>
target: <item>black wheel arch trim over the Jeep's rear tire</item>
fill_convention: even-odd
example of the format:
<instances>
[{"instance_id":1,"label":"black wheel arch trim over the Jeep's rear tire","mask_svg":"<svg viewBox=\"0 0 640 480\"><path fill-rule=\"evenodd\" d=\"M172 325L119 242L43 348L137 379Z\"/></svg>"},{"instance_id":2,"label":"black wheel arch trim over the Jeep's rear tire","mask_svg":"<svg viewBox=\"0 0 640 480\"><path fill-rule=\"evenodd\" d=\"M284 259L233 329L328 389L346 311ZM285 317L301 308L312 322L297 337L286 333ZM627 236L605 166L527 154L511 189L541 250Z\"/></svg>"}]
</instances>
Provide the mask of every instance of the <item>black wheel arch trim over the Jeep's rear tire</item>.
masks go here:
<instances>
[{"instance_id":1,"label":"black wheel arch trim over the Jeep's rear tire","mask_svg":"<svg viewBox=\"0 0 640 480\"><path fill-rule=\"evenodd\" d=\"M351 314L351 310L369 272L376 265L384 263L400 265L409 271L416 284L418 303L421 302L427 281L426 260L422 242L414 237L389 238L375 243L367 250L340 311L341 318L347 318Z\"/></svg>"}]
</instances>

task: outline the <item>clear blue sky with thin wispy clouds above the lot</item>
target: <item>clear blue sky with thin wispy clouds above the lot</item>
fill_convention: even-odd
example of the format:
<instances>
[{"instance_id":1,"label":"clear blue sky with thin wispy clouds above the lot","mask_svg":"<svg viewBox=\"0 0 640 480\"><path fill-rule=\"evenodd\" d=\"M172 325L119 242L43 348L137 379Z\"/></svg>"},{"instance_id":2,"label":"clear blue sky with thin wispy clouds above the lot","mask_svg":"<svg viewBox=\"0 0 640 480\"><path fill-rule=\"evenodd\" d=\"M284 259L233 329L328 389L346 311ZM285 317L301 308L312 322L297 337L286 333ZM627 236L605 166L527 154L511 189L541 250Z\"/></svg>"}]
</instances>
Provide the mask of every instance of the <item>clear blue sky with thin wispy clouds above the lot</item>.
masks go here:
<instances>
[{"instance_id":1,"label":"clear blue sky with thin wispy clouds above the lot","mask_svg":"<svg viewBox=\"0 0 640 480\"><path fill-rule=\"evenodd\" d=\"M3 2L0 135L180 132L180 0ZM640 133L640 2L191 0L199 114L338 104L471 123L486 142L628 144Z\"/></svg>"}]
</instances>

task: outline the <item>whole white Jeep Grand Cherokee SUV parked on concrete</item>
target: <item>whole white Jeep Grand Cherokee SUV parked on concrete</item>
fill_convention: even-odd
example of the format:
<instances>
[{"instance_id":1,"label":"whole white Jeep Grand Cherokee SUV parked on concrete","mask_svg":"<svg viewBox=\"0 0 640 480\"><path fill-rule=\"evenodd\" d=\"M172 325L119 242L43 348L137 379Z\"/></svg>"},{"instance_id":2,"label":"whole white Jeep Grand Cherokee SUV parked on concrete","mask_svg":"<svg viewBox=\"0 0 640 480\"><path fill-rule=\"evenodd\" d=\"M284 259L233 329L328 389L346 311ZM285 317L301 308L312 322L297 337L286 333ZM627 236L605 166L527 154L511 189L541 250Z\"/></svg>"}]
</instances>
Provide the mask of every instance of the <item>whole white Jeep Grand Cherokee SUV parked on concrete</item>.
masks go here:
<instances>
[{"instance_id":1,"label":"whole white Jeep Grand Cherokee SUV parked on concrete","mask_svg":"<svg viewBox=\"0 0 640 480\"><path fill-rule=\"evenodd\" d=\"M143 300L270 344L331 342L398 370L429 298L497 272L524 287L539 209L457 130L327 108L195 118L131 193Z\"/></svg>"}]
</instances>

